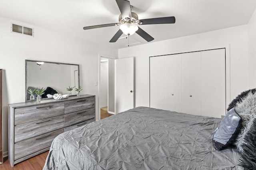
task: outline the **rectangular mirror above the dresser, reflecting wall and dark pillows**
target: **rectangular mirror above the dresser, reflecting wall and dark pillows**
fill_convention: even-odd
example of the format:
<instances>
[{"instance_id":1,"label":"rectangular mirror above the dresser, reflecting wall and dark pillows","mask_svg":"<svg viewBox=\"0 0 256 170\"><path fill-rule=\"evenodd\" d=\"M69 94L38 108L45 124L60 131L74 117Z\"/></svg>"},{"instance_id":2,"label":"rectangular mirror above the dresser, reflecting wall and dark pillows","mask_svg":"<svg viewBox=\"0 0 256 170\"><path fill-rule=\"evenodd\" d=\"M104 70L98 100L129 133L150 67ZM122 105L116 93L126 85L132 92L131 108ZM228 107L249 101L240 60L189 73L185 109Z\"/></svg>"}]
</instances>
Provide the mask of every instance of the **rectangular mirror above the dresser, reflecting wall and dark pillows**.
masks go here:
<instances>
[{"instance_id":1,"label":"rectangular mirror above the dresser, reflecting wall and dark pillows","mask_svg":"<svg viewBox=\"0 0 256 170\"><path fill-rule=\"evenodd\" d=\"M69 94L67 88L79 87L79 64L53 63L46 61L25 60L26 67L26 102L31 94L28 90L45 88L42 100L52 98L53 94ZM75 88L71 95L76 95Z\"/></svg>"}]
</instances>

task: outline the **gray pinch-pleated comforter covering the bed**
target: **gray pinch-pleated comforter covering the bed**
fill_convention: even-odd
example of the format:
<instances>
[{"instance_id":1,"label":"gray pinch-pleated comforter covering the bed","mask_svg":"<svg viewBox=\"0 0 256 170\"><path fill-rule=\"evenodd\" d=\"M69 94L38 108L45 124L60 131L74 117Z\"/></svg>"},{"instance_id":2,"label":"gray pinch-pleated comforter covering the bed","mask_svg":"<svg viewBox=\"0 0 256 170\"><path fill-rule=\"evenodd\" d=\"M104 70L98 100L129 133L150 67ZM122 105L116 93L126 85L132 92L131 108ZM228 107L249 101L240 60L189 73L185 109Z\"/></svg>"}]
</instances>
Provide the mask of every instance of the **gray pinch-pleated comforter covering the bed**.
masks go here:
<instances>
[{"instance_id":1,"label":"gray pinch-pleated comforter covering the bed","mask_svg":"<svg viewBox=\"0 0 256 170\"><path fill-rule=\"evenodd\" d=\"M215 150L221 119L136 107L58 135L44 170L236 170L235 149Z\"/></svg>"}]
</instances>

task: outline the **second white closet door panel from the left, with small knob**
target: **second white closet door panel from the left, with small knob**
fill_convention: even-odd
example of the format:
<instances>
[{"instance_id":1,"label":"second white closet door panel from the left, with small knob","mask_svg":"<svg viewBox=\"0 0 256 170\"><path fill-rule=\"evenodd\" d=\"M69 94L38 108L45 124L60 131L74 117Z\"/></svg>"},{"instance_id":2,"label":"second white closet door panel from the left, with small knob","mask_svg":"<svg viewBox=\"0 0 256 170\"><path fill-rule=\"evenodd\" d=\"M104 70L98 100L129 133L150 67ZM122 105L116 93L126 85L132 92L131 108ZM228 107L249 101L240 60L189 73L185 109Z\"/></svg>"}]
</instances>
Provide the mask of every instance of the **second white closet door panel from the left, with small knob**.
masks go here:
<instances>
[{"instance_id":1,"label":"second white closet door panel from the left, with small knob","mask_svg":"<svg viewBox=\"0 0 256 170\"><path fill-rule=\"evenodd\" d=\"M181 112L180 54L164 57L164 109Z\"/></svg>"}]
</instances>

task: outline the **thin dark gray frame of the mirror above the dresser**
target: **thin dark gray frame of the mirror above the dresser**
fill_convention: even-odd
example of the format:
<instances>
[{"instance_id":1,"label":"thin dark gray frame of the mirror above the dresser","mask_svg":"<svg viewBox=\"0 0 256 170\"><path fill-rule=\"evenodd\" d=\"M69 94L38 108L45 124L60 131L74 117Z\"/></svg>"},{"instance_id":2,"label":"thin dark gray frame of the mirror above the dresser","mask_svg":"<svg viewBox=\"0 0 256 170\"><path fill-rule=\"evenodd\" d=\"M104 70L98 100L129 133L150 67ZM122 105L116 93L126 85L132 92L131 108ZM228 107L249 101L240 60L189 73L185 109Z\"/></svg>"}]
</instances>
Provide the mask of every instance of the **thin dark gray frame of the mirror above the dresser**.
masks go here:
<instances>
[{"instance_id":1,"label":"thin dark gray frame of the mirror above the dresser","mask_svg":"<svg viewBox=\"0 0 256 170\"><path fill-rule=\"evenodd\" d=\"M79 72L79 64L70 64L70 63L56 63L56 62L50 62L50 61L37 61L37 60L25 60L25 102L35 102L35 100L27 100L27 62L44 62L44 63L51 63L51 64L66 64L66 65L74 65L78 67L78 87L80 87L80 72ZM76 95L72 95L72 96L76 96ZM53 98L42 98L41 100L50 100Z\"/></svg>"}]
</instances>

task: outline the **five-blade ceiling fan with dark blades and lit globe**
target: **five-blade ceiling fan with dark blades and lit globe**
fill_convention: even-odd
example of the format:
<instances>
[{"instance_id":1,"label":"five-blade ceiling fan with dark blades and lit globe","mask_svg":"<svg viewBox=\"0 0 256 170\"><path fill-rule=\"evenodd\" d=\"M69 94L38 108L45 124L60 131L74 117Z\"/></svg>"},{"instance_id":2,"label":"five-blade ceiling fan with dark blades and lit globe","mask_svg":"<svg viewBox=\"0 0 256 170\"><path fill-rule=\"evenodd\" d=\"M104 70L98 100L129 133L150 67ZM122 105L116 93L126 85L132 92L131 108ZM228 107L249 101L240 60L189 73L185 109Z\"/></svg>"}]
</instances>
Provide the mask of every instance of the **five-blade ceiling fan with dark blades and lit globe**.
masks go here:
<instances>
[{"instance_id":1,"label":"five-blade ceiling fan with dark blades and lit globe","mask_svg":"<svg viewBox=\"0 0 256 170\"><path fill-rule=\"evenodd\" d=\"M117 31L114 37L112 37L112 39L109 41L110 43L116 42L123 33L129 36L134 34L135 32L149 42L149 41L152 41L154 38L151 37L148 33L146 33L143 29L141 29L137 25L175 23L174 16L139 20L138 15L132 12L132 6L130 5L130 1L116 0L116 3L121 12L119 16L119 23L108 23L108 24L102 24L102 25L88 26L88 27L84 27L84 30L120 25L120 29Z\"/></svg>"}]
</instances>

